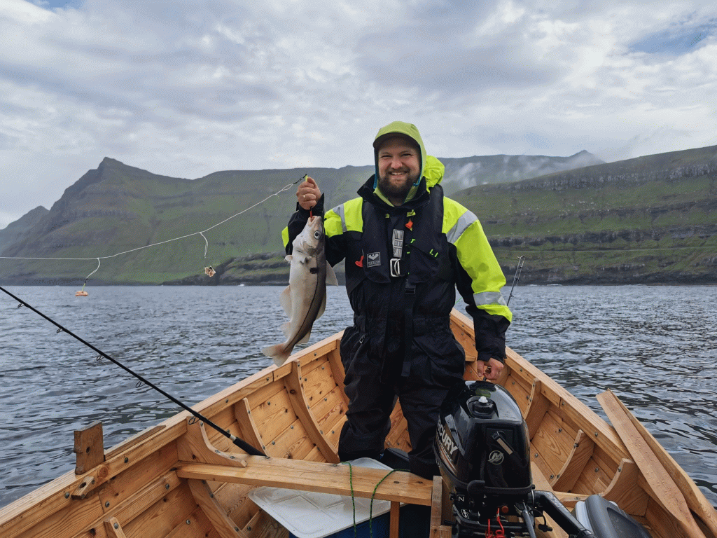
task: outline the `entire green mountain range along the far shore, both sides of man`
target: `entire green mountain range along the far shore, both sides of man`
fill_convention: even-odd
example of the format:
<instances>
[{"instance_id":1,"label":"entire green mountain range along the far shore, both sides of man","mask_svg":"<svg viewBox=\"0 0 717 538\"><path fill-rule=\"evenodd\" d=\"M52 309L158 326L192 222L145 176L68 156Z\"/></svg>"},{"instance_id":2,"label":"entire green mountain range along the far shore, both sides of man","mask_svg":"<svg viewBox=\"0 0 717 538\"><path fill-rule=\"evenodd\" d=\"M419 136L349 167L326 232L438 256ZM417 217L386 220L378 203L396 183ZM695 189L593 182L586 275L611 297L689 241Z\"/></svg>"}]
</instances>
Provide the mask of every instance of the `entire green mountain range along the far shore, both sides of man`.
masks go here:
<instances>
[{"instance_id":1,"label":"entire green mountain range along the far shore, both sides of man","mask_svg":"<svg viewBox=\"0 0 717 538\"><path fill-rule=\"evenodd\" d=\"M442 161L447 191L473 185L453 197L480 218L508 283L520 255L521 283L713 282L716 152L610 164L594 164L587 152ZM581 164L592 166L565 171ZM554 170L562 171L494 183ZM0 278L82 285L98 269L90 285L285 283L280 231L295 208L295 183L313 176L333 207L355 196L372 172L220 171L190 180L105 158L49 212L35 209L0 230L2 256L61 259L0 260ZM209 265L212 278L204 275Z\"/></svg>"}]
</instances>

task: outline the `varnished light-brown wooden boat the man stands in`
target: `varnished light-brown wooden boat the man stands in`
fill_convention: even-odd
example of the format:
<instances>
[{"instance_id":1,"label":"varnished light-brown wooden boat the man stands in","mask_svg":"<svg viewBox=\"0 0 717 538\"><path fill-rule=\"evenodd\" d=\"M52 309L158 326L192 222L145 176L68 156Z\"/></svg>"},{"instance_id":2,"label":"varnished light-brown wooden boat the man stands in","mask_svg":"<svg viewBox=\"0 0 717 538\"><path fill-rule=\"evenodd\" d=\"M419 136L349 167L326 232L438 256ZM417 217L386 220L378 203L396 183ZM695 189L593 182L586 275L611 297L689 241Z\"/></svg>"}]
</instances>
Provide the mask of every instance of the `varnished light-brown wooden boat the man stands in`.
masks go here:
<instances>
[{"instance_id":1,"label":"varnished light-brown wooden boat the man stands in","mask_svg":"<svg viewBox=\"0 0 717 538\"><path fill-rule=\"evenodd\" d=\"M454 311L452 329L466 350L474 349L471 321ZM385 471L338 465L346 412L340 337L320 341L282 367L264 369L194 407L268 458L247 456L188 412L106 451L101 430L93 425L75 432L76 472L0 509L0 537L287 537L288 530L250 499L256 486L375 494L391 501L392 536L399 503L431 506L431 535L450 536L450 503L440 477L431 482L399 471L376 488ZM478 377L470 352L465 377ZM553 491L568 508L599 494L654 538L717 538L711 504L627 410L619 417L609 395L602 396L606 409L612 405L608 414L620 423L620 434L512 350L499 383L526 420L537 489ZM386 445L409 450L399 405L391 423ZM631 450L642 453L635 458ZM680 514L678 505L687 505L687 514ZM538 530L538 536L567 536L553 527Z\"/></svg>"}]
</instances>

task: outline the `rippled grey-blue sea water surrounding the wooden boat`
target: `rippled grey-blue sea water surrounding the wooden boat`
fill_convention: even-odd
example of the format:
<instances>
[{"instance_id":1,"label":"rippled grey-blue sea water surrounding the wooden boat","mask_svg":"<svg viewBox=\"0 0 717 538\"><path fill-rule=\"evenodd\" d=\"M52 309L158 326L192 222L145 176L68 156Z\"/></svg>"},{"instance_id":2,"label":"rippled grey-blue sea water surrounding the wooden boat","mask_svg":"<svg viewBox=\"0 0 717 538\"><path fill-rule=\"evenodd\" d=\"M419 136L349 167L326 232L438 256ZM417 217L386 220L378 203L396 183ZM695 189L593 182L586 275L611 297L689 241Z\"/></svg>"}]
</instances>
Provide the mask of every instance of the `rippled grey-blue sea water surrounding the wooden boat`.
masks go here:
<instances>
[{"instance_id":1,"label":"rippled grey-blue sea water surrounding the wooden boat","mask_svg":"<svg viewBox=\"0 0 717 538\"><path fill-rule=\"evenodd\" d=\"M271 363L281 289L9 288L188 405ZM519 287L508 345L603 417L612 389L717 505L716 304L706 286ZM332 287L310 343L350 322ZM109 448L179 412L95 357L0 292L0 506L74 468L73 430L101 420Z\"/></svg>"}]
</instances>

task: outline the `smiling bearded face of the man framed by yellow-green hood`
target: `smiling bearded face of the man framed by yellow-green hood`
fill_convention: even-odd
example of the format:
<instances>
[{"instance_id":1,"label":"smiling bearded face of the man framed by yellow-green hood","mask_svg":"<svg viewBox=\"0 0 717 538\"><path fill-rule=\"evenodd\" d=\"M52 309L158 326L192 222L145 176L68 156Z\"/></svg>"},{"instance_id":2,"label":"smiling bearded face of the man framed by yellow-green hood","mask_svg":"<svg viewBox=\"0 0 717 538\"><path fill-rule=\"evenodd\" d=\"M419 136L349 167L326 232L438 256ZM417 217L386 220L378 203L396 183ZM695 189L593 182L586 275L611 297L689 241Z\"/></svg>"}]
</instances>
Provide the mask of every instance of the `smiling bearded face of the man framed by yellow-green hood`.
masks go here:
<instances>
[{"instance_id":1,"label":"smiling bearded face of the man framed by yellow-green hood","mask_svg":"<svg viewBox=\"0 0 717 538\"><path fill-rule=\"evenodd\" d=\"M421 173L419 151L405 138L389 138L381 144L378 159L381 192L403 202Z\"/></svg>"}]
</instances>

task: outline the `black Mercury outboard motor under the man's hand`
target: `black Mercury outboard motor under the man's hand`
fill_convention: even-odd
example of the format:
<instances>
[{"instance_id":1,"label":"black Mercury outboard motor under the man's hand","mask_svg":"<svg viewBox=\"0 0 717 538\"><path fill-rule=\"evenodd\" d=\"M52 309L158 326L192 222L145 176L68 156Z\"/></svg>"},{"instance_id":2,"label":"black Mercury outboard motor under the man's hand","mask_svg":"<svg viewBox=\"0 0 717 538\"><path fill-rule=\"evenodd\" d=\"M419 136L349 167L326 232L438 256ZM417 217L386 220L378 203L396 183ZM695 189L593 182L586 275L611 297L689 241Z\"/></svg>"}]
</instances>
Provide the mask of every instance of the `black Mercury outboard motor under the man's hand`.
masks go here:
<instances>
[{"instance_id":1,"label":"black Mercury outboard motor under the man's hand","mask_svg":"<svg viewBox=\"0 0 717 538\"><path fill-rule=\"evenodd\" d=\"M453 537L535 537L535 519L543 511L571 537L594 537L554 494L535 491L528 427L500 385L453 387L441 408L434 452L453 503Z\"/></svg>"}]
</instances>

